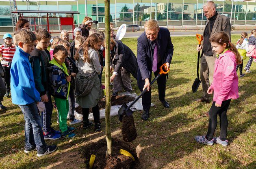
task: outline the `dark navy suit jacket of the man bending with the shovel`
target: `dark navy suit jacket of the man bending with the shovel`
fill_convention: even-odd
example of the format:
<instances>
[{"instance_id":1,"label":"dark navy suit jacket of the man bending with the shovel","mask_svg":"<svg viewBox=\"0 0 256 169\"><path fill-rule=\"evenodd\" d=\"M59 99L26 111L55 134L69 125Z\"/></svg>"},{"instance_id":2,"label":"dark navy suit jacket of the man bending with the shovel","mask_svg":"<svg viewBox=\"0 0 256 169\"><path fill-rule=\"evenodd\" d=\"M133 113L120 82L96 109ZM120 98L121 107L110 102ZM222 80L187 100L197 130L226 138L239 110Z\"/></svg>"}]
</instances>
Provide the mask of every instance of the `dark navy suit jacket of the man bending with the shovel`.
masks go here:
<instances>
[{"instance_id":1,"label":"dark navy suit jacket of the man bending with the shovel","mask_svg":"<svg viewBox=\"0 0 256 169\"><path fill-rule=\"evenodd\" d=\"M171 43L171 34L167 28L160 27L158 32L158 51L161 56L161 62L171 63L171 58L174 53L174 45ZM137 46L137 62L141 72L142 80L150 78L152 73L153 55L150 40L148 40L146 33L143 32L138 38Z\"/></svg>"}]
</instances>

